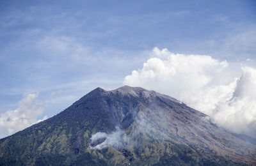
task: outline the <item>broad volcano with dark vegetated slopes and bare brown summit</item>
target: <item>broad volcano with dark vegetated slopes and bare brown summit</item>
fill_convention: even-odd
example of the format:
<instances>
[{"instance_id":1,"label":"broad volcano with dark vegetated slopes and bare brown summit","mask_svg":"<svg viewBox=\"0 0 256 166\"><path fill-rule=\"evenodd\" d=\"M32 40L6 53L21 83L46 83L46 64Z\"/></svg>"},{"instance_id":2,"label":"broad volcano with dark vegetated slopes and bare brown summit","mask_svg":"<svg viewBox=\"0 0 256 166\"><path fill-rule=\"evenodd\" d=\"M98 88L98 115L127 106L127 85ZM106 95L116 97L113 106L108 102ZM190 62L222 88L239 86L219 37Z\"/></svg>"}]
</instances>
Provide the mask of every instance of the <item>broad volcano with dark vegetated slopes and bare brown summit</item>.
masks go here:
<instances>
[{"instance_id":1,"label":"broad volcano with dark vegetated slopes and bare brown summit","mask_svg":"<svg viewBox=\"0 0 256 166\"><path fill-rule=\"evenodd\" d=\"M256 165L256 146L170 96L98 87L1 139L0 165Z\"/></svg>"}]
</instances>

